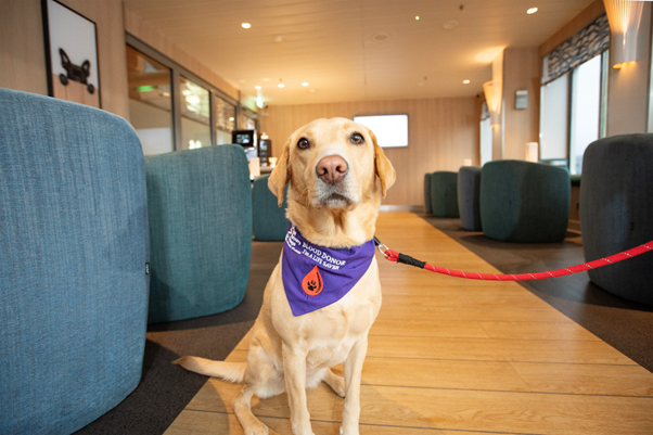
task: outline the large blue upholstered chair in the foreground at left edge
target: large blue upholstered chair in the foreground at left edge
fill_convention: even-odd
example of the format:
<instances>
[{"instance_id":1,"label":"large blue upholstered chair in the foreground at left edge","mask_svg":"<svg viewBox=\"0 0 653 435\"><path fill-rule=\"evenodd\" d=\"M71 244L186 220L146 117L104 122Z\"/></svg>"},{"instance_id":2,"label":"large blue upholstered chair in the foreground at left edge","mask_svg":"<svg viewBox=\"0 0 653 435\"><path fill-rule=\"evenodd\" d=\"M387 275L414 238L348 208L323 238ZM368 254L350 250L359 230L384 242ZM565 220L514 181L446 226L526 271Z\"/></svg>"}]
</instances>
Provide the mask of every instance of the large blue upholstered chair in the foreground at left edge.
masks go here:
<instances>
[{"instance_id":1,"label":"large blue upholstered chair in the foreground at left edge","mask_svg":"<svg viewBox=\"0 0 653 435\"><path fill-rule=\"evenodd\" d=\"M69 434L141 379L148 209L125 119L0 89L0 434Z\"/></svg>"}]
</instances>

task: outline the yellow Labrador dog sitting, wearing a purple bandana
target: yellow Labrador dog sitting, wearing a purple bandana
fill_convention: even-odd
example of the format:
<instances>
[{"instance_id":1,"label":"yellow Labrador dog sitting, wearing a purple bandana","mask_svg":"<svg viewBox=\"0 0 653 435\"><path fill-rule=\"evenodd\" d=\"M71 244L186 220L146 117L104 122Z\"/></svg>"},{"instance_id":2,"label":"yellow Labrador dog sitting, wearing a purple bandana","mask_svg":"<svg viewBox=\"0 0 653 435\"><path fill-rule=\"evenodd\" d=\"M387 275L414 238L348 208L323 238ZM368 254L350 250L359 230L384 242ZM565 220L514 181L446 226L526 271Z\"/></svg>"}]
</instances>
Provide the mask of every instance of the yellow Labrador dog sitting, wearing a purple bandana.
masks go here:
<instances>
[{"instance_id":1,"label":"yellow Labrador dog sitting, wearing a purple bandana","mask_svg":"<svg viewBox=\"0 0 653 435\"><path fill-rule=\"evenodd\" d=\"M251 409L287 393L293 434L312 434L306 388L321 381L345 397L341 433L358 434L368 332L381 308L374 229L395 169L366 127L317 119L285 143L269 180L291 229L266 286L246 363L182 357L188 370L243 382L233 411L246 435L268 434ZM344 379L331 368L344 363Z\"/></svg>"}]
</instances>

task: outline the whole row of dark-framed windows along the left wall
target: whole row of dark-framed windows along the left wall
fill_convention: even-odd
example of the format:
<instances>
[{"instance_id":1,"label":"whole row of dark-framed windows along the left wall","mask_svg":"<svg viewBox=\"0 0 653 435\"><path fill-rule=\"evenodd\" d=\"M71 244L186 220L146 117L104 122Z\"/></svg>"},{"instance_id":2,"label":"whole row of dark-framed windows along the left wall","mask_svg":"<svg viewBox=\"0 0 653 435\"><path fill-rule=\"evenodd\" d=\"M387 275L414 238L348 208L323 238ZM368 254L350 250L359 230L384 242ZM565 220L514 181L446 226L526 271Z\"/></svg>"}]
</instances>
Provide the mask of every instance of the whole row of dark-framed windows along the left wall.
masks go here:
<instances>
[{"instance_id":1,"label":"whole row of dark-framed windows along the left wall","mask_svg":"<svg viewBox=\"0 0 653 435\"><path fill-rule=\"evenodd\" d=\"M238 100L131 35L127 65L130 121L145 155L232 142Z\"/></svg>"}]
</instances>

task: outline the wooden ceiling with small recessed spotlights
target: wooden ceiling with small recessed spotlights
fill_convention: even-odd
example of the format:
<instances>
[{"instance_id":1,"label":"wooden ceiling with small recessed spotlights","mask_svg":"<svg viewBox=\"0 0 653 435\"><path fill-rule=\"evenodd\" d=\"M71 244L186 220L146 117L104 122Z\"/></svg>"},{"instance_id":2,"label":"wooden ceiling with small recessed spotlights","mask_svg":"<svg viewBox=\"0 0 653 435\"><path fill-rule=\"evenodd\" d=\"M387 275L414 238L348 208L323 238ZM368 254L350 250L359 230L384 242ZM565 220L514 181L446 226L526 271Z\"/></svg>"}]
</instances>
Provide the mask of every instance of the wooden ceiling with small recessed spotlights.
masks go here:
<instances>
[{"instance_id":1,"label":"wooden ceiling with small recessed spotlights","mask_svg":"<svg viewBox=\"0 0 653 435\"><path fill-rule=\"evenodd\" d=\"M280 105L474 95L491 79L497 50L539 47L592 0L124 3L243 99Z\"/></svg>"}]
</instances>

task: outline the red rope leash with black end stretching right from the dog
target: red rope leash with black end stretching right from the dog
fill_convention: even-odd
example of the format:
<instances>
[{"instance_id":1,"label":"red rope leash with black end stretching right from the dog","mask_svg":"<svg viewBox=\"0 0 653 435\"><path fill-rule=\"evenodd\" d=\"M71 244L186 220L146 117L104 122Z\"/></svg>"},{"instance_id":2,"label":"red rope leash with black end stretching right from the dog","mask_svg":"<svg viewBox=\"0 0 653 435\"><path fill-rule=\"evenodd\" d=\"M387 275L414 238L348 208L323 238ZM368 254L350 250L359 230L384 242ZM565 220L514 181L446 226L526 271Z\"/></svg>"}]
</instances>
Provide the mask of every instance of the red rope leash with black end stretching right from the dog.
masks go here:
<instances>
[{"instance_id":1,"label":"red rope leash with black end stretching right from the dog","mask_svg":"<svg viewBox=\"0 0 653 435\"><path fill-rule=\"evenodd\" d=\"M472 273L463 272L460 270L446 269L444 267L437 267L428 265L427 263L420 261L408 255L397 253L396 251L389 250L386 245L381 243L379 239L374 238L374 242L379 247L379 251L385 256L385 259L394 263L402 263L419 267L420 269L431 270L432 272L448 274L450 277L466 278L470 280L486 280L486 281L529 281L529 280L543 280L547 278L564 277L572 273L582 272L589 269L597 269L603 266L613 265L615 263L636 257L640 254L653 251L653 241L644 243L633 247L632 250L625 251L620 254L611 255L610 257L597 259L593 261L585 263L564 269L551 270L548 272L536 272L536 273L517 273L517 274L495 274L495 273Z\"/></svg>"}]
</instances>

